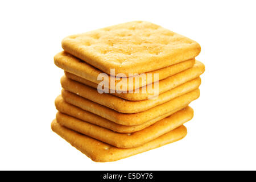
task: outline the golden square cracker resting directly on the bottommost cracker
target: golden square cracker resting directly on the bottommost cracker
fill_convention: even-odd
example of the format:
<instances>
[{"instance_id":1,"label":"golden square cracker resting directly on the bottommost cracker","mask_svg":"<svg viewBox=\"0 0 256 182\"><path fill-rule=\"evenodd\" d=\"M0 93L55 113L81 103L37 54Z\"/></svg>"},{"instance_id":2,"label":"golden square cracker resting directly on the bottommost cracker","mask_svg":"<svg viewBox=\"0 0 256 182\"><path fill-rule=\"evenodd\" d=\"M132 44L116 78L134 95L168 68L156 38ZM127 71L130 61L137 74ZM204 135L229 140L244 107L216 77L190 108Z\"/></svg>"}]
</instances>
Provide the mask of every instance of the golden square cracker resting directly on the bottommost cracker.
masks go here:
<instances>
[{"instance_id":1,"label":"golden square cracker resting directly on the bottommost cracker","mask_svg":"<svg viewBox=\"0 0 256 182\"><path fill-rule=\"evenodd\" d=\"M127 134L117 133L59 112L56 114L56 120L61 126L118 148L139 147L144 143L150 142L151 140L176 129L192 118L193 109L191 107L185 107L185 109L177 111L169 117L146 127L146 129Z\"/></svg>"}]
</instances>

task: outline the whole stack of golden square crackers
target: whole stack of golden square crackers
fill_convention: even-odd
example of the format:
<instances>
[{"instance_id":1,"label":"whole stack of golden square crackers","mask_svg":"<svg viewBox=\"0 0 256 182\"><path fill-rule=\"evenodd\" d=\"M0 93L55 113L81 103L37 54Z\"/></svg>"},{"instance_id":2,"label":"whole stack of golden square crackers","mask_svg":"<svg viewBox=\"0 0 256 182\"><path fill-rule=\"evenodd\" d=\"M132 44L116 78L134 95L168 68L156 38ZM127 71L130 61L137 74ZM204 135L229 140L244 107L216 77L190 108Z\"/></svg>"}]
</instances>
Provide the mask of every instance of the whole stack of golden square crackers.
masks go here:
<instances>
[{"instance_id":1,"label":"whole stack of golden square crackers","mask_svg":"<svg viewBox=\"0 0 256 182\"><path fill-rule=\"evenodd\" d=\"M204 72L198 43L136 21L68 36L62 47L51 127L72 146L110 162L185 137Z\"/></svg>"}]
</instances>

